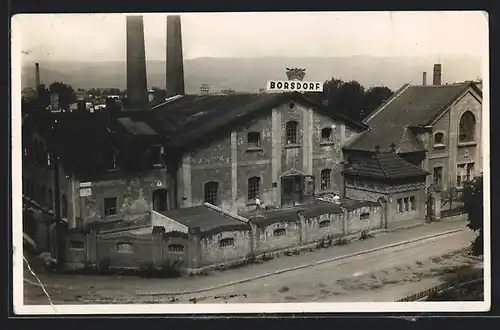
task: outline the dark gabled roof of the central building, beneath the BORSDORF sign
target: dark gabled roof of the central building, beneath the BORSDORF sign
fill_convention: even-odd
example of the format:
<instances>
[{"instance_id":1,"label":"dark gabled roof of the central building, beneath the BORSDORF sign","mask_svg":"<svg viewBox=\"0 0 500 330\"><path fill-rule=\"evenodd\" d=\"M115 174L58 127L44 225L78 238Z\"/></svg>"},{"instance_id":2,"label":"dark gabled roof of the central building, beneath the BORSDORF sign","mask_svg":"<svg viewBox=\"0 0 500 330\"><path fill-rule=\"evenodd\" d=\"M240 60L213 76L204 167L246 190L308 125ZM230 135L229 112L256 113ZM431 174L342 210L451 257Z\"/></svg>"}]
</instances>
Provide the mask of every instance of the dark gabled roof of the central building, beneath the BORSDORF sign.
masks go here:
<instances>
[{"instance_id":1,"label":"dark gabled roof of the central building, beneath the BORSDORF sign","mask_svg":"<svg viewBox=\"0 0 500 330\"><path fill-rule=\"evenodd\" d=\"M367 128L363 123L343 113L332 112L300 93L184 95L157 106L153 113L170 136L169 144L174 148L182 148L205 140L232 125L244 124L245 120L290 101L311 106L315 111L342 121L358 131Z\"/></svg>"}]
</instances>

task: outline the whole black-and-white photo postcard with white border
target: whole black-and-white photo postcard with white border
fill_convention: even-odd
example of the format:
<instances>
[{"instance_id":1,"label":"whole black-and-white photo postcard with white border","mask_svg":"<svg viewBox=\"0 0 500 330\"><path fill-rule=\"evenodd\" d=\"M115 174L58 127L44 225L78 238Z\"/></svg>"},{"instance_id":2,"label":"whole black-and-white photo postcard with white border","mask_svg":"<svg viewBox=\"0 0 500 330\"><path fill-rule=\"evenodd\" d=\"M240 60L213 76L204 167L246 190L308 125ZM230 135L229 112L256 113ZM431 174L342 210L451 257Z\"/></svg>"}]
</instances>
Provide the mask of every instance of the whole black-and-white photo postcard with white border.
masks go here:
<instances>
[{"instance_id":1,"label":"whole black-and-white photo postcard with white border","mask_svg":"<svg viewBox=\"0 0 500 330\"><path fill-rule=\"evenodd\" d=\"M17 314L486 311L488 15L12 18Z\"/></svg>"}]
</instances>

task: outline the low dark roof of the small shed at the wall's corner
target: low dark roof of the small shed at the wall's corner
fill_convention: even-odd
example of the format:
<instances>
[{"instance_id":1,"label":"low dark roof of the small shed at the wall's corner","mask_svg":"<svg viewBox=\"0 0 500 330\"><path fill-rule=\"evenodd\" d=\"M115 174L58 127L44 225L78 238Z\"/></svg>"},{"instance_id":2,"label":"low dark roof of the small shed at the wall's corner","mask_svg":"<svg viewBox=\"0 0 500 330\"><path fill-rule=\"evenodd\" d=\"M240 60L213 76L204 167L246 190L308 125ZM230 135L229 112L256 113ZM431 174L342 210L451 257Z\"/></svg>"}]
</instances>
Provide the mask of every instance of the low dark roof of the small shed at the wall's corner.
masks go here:
<instances>
[{"instance_id":1,"label":"low dark roof of the small shed at the wall's corner","mask_svg":"<svg viewBox=\"0 0 500 330\"><path fill-rule=\"evenodd\" d=\"M205 205L160 212L188 228L199 227L202 233L221 230L249 230L250 225Z\"/></svg>"}]
</instances>

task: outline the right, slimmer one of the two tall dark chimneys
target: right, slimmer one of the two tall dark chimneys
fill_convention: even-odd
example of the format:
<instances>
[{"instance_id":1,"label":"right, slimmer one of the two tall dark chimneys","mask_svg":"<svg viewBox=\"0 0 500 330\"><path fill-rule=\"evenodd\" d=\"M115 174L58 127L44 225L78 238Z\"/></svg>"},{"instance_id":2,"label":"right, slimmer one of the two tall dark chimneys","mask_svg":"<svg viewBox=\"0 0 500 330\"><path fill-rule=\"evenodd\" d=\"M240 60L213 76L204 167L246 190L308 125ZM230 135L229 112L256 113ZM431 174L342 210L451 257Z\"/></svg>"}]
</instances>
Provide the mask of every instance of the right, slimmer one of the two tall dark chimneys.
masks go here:
<instances>
[{"instance_id":1,"label":"right, slimmer one of the two tall dark chimneys","mask_svg":"<svg viewBox=\"0 0 500 330\"><path fill-rule=\"evenodd\" d=\"M184 95L181 17L167 16L167 97Z\"/></svg>"}]
</instances>

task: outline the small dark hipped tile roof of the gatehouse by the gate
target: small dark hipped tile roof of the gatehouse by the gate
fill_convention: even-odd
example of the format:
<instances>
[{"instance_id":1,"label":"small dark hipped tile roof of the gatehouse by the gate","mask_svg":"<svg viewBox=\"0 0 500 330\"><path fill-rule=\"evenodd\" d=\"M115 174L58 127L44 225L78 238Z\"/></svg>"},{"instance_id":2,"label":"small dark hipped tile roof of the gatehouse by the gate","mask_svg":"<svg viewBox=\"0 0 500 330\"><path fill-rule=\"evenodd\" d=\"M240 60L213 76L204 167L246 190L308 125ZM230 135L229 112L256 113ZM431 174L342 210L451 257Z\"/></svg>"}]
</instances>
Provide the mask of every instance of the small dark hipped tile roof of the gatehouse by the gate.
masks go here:
<instances>
[{"instance_id":1,"label":"small dark hipped tile roof of the gatehouse by the gate","mask_svg":"<svg viewBox=\"0 0 500 330\"><path fill-rule=\"evenodd\" d=\"M408 163L394 152L383 152L375 153L371 158L349 166L343 171L343 174L390 180L425 177L429 173Z\"/></svg>"}]
</instances>

